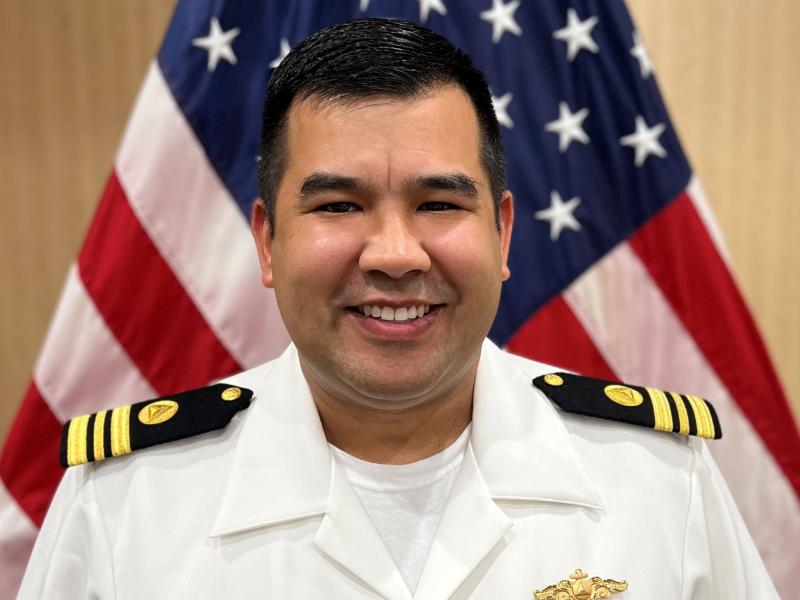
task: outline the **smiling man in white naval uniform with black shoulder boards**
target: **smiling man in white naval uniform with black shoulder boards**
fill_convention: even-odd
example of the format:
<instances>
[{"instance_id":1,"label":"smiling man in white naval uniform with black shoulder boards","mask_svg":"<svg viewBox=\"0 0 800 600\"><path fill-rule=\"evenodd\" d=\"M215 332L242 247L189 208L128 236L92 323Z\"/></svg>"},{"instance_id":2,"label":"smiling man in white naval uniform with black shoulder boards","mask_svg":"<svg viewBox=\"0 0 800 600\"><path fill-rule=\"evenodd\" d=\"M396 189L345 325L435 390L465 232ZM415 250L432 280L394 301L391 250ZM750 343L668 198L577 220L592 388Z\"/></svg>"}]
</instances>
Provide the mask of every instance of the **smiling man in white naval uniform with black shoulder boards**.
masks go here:
<instances>
[{"instance_id":1,"label":"smiling man in white naval uniform with black shoulder boards","mask_svg":"<svg viewBox=\"0 0 800 600\"><path fill-rule=\"evenodd\" d=\"M562 412L548 396L600 384L485 341L514 213L468 57L403 21L311 36L270 82L259 169L293 345L74 419L65 460L95 462L65 476L21 598L777 597L703 443ZM699 399L602 389L606 416L718 434Z\"/></svg>"}]
</instances>

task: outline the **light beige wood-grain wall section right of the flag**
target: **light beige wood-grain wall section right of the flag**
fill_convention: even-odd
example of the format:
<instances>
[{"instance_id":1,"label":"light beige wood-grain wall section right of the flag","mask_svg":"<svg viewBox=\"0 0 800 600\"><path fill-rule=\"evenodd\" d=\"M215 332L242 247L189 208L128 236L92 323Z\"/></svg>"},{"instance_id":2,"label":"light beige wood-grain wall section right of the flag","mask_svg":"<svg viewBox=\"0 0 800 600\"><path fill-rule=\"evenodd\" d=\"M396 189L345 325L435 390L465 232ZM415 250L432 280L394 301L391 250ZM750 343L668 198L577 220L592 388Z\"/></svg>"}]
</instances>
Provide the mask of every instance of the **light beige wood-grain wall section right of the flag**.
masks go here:
<instances>
[{"instance_id":1,"label":"light beige wood-grain wall section right of the flag","mask_svg":"<svg viewBox=\"0 0 800 600\"><path fill-rule=\"evenodd\" d=\"M800 3L629 7L800 419Z\"/></svg>"}]
</instances>

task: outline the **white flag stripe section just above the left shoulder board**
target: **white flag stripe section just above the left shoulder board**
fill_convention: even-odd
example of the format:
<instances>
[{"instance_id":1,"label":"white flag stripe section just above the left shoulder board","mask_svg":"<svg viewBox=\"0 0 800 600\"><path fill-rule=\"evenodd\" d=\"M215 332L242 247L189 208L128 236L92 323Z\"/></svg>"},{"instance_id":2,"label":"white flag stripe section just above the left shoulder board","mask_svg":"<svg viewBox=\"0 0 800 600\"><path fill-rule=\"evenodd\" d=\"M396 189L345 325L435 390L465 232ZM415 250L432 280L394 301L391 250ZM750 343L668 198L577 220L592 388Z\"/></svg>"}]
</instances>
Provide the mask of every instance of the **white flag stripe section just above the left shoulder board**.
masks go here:
<instances>
[{"instance_id":1,"label":"white flag stripe section just above the left shoulder board","mask_svg":"<svg viewBox=\"0 0 800 600\"><path fill-rule=\"evenodd\" d=\"M33 377L62 423L156 395L97 312L75 265L67 274Z\"/></svg>"}]
</instances>

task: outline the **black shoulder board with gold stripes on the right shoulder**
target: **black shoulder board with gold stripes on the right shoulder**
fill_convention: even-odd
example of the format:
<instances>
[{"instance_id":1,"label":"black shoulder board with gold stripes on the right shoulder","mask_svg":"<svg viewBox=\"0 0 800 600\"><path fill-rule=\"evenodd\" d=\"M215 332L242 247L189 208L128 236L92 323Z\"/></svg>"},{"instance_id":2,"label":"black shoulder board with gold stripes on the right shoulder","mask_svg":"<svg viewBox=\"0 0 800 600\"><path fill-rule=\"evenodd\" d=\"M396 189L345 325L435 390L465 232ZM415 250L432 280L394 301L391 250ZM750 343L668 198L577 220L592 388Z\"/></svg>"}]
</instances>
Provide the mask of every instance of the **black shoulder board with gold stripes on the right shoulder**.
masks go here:
<instances>
[{"instance_id":1,"label":"black shoulder board with gold stripes on the right shoulder","mask_svg":"<svg viewBox=\"0 0 800 600\"><path fill-rule=\"evenodd\" d=\"M697 396L664 392L570 373L550 373L533 380L561 410L621 421L657 431L722 437L717 412Z\"/></svg>"}]
</instances>

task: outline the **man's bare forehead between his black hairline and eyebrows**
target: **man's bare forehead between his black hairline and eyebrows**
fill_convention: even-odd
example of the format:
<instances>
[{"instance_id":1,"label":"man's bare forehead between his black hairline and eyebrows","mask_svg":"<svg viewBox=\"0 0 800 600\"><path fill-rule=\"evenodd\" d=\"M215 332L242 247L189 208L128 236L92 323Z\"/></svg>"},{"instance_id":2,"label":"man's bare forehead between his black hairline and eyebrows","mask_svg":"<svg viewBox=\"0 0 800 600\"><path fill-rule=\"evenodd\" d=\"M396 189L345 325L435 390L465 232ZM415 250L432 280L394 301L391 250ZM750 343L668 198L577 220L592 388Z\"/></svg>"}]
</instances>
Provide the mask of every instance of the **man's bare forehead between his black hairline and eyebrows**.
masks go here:
<instances>
[{"instance_id":1,"label":"man's bare forehead between his black hairline and eyebrows","mask_svg":"<svg viewBox=\"0 0 800 600\"><path fill-rule=\"evenodd\" d=\"M311 97L289 111L286 182L327 171L391 187L404 177L460 171L486 184L479 143L475 108L455 85L411 98Z\"/></svg>"}]
</instances>

